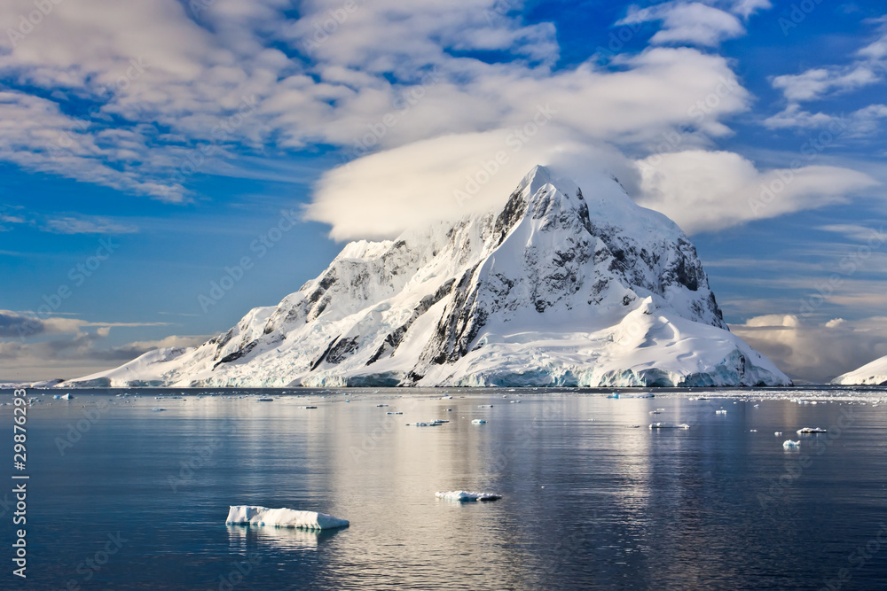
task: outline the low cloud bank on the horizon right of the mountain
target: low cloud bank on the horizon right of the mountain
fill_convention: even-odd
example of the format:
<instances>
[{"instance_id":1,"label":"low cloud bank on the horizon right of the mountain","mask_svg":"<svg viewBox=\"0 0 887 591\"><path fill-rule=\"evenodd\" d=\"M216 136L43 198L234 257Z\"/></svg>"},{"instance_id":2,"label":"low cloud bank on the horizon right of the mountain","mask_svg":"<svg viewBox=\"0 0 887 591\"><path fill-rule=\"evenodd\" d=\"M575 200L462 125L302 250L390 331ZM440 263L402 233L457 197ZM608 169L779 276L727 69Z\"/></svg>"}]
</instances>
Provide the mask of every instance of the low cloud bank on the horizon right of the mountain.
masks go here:
<instances>
[{"instance_id":1,"label":"low cloud bank on the horizon right of the mountain","mask_svg":"<svg viewBox=\"0 0 887 591\"><path fill-rule=\"evenodd\" d=\"M887 355L887 317L805 323L797 315L763 315L730 326L790 377L828 382Z\"/></svg>"}]
</instances>

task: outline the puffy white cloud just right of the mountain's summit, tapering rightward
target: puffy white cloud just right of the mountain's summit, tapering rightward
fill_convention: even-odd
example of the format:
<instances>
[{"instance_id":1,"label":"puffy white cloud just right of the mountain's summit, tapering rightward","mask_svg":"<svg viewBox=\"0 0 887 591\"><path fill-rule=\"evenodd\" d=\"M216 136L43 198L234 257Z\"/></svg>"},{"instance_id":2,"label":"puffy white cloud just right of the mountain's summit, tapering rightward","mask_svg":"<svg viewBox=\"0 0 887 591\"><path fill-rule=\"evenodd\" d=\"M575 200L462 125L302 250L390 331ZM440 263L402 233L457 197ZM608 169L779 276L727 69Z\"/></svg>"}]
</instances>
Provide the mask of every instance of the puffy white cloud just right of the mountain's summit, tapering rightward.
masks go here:
<instances>
[{"instance_id":1,"label":"puffy white cloud just right of the mountain's summit, tapering rightward","mask_svg":"<svg viewBox=\"0 0 887 591\"><path fill-rule=\"evenodd\" d=\"M671 152L642 159L638 166L640 205L661 211L689 233L838 203L878 184L841 167L761 172L734 152Z\"/></svg>"}]
</instances>

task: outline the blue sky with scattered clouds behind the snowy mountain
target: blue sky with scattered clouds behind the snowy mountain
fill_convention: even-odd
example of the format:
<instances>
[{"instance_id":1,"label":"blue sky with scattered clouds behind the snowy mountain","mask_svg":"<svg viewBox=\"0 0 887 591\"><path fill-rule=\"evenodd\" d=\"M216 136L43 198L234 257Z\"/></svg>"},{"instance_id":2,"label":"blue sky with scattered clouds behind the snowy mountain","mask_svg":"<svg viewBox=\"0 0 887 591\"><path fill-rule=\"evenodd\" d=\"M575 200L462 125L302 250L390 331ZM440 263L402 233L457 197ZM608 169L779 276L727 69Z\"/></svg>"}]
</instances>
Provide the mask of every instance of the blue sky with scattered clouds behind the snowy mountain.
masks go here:
<instances>
[{"instance_id":1,"label":"blue sky with scattered clouds behind the snowy mountain","mask_svg":"<svg viewBox=\"0 0 887 591\"><path fill-rule=\"evenodd\" d=\"M0 380L200 342L537 162L679 222L789 375L887 354L883 3L40 5L0 8Z\"/></svg>"}]
</instances>

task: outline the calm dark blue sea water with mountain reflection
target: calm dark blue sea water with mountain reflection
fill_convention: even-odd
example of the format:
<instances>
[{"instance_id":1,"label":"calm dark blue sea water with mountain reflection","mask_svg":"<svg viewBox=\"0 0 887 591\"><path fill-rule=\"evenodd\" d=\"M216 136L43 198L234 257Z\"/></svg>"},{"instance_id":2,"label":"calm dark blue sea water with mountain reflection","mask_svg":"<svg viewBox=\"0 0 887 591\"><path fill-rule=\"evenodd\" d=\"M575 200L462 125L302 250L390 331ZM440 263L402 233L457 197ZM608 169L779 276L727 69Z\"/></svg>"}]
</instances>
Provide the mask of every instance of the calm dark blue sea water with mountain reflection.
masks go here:
<instances>
[{"instance_id":1,"label":"calm dark blue sea water with mountain reflection","mask_svg":"<svg viewBox=\"0 0 887 591\"><path fill-rule=\"evenodd\" d=\"M0 587L887 588L883 391L127 392L29 391L27 580L8 480ZM454 489L503 499L436 500ZM351 525L229 527L233 504Z\"/></svg>"}]
</instances>

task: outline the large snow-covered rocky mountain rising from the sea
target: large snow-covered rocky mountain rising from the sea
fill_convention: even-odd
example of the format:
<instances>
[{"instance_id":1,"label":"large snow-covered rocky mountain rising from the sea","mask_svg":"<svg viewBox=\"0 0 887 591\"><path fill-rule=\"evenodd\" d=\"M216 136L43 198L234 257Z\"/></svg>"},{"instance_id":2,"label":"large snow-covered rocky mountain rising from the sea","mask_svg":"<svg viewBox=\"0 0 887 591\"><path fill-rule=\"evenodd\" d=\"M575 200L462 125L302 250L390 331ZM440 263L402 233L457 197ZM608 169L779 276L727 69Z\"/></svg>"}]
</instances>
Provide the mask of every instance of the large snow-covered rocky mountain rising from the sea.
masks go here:
<instances>
[{"instance_id":1,"label":"large snow-covered rocky mountain rising from the sea","mask_svg":"<svg viewBox=\"0 0 887 591\"><path fill-rule=\"evenodd\" d=\"M194 348L66 385L789 385L723 321L695 248L615 178L546 167L500 212L346 245Z\"/></svg>"}]
</instances>

